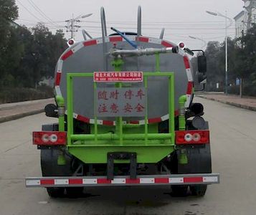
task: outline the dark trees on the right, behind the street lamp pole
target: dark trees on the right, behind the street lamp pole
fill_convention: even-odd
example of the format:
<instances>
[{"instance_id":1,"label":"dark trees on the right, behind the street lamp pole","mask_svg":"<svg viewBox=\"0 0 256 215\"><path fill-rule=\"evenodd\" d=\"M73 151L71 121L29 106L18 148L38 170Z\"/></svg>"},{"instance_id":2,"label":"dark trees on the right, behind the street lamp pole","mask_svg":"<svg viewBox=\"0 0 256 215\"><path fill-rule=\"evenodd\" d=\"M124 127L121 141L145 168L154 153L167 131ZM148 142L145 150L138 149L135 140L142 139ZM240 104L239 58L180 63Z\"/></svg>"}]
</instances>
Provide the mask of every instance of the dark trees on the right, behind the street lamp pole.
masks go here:
<instances>
[{"instance_id":1,"label":"dark trees on the right, behind the street lamp pole","mask_svg":"<svg viewBox=\"0 0 256 215\"><path fill-rule=\"evenodd\" d=\"M228 93L239 94L237 80L242 79L243 95L256 95L256 25L240 38L228 38ZM209 42L207 57L208 91L223 91L225 80L225 42ZM219 83L219 88L217 88Z\"/></svg>"}]
</instances>

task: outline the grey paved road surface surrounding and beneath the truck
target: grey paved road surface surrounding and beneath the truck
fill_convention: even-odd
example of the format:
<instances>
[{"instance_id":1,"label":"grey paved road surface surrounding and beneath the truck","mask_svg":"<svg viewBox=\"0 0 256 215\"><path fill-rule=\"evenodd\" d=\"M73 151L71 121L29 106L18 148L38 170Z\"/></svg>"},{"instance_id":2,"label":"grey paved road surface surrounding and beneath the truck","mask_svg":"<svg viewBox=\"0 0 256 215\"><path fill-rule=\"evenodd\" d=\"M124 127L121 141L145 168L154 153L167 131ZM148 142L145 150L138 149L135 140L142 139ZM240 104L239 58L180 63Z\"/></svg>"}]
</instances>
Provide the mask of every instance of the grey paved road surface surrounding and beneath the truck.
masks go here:
<instances>
[{"instance_id":1,"label":"grey paved road surface surrounding and beneath the truck","mask_svg":"<svg viewBox=\"0 0 256 215\"><path fill-rule=\"evenodd\" d=\"M50 199L43 188L25 188L40 176L32 130L54 122L43 114L0 124L0 214L256 214L256 112L219 102L205 104L213 170L221 183L204 198L172 198L169 188L88 188L80 199Z\"/></svg>"}]
</instances>

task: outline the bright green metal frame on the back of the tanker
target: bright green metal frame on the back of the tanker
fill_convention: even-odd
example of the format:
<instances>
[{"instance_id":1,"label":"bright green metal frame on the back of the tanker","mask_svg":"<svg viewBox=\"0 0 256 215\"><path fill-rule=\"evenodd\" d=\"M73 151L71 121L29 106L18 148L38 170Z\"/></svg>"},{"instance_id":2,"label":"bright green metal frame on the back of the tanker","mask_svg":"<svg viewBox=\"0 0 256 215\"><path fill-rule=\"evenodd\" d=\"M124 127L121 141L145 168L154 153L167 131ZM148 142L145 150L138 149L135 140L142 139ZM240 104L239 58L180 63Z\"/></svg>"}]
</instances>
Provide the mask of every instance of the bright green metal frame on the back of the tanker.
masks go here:
<instances>
[{"instance_id":1,"label":"bright green metal frame on the back of the tanker","mask_svg":"<svg viewBox=\"0 0 256 215\"><path fill-rule=\"evenodd\" d=\"M144 125L123 125L123 118L115 119L115 134L100 133L104 125L97 124L97 116L94 116L93 134L74 134L73 124L73 79L75 77L93 77L93 72L67 73L67 149L74 156L86 163L105 163L105 153L108 151L135 151L143 153L143 158L138 162L155 163L174 151L175 123L174 123L174 72L143 72L143 85L148 88L148 77L169 78L169 133L151 133L151 125L148 124L148 100L146 100L146 115ZM121 83L116 83L122 87ZM94 92L97 82L94 83ZM95 105L94 105L95 106ZM138 128L140 133L123 133L125 128ZM148 151L148 155L146 155ZM89 153L90 152L90 153ZM101 154L99 154L101 152ZM156 155L154 154L156 152ZM92 155L94 153L94 155ZM98 156L98 158L96 158ZM104 158L100 158L103 156ZM155 158L152 158L155 156ZM117 162L118 163L118 162Z\"/></svg>"}]
</instances>

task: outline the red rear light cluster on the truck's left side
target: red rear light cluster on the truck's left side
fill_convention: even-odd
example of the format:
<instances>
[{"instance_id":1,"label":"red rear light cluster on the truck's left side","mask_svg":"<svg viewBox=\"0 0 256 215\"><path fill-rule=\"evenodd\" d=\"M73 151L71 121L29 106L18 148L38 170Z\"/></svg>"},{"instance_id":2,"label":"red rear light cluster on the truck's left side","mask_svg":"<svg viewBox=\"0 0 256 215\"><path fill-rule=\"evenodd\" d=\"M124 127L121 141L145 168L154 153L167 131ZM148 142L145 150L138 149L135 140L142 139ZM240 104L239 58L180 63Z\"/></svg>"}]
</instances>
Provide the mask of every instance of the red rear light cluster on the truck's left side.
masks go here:
<instances>
[{"instance_id":1,"label":"red rear light cluster on the truck's left side","mask_svg":"<svg viewBox=\"0 0 256 215\"><path fill-rule=\"evenodd\" d=\"M60 131L34 131L34 145L66 145L67 134Z\"/></svg>"}]
</instances>

